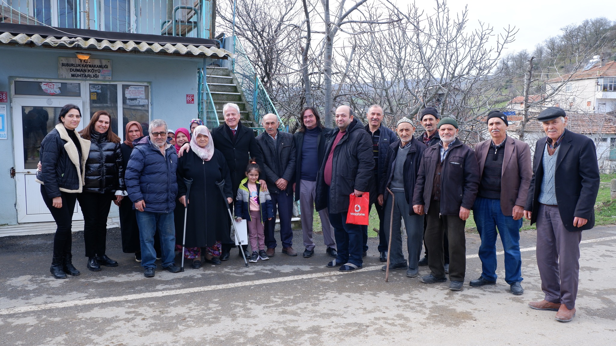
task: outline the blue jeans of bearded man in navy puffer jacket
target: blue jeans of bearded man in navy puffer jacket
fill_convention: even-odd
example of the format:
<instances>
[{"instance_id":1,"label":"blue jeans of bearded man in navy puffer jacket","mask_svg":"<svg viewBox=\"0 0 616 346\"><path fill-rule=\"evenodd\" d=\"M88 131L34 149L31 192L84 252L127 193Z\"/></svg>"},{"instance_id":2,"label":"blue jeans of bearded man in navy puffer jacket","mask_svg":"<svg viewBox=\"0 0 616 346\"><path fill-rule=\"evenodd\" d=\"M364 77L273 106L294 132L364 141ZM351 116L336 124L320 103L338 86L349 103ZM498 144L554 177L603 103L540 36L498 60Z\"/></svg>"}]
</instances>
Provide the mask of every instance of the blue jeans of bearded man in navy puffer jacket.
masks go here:
<instances>
[{"instance_id":1,"label":"blue jeans of bearded man in navy puffer jacket","mask_svg":"<svg viewBox=\"0 0 616 346\"><path fill-rule=\"evenodd\" d=\"M173 212L135 211L139 225L139 241L141 244L141 266L156 268L156 251L154 250L154 234L160 236L161 262L163 268L175 262L176 227Z\"/></svg>"}]
</instances>

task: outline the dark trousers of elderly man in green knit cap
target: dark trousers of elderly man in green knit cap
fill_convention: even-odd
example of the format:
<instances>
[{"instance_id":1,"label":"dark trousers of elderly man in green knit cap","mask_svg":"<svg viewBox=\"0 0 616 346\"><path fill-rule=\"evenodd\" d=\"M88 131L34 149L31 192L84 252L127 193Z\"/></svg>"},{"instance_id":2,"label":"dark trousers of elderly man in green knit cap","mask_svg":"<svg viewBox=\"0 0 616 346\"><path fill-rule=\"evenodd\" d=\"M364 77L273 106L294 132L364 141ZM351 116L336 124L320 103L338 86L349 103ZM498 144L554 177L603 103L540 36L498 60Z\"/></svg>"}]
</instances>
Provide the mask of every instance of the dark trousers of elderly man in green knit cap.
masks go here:
<instances>
[{"instance_id":1,"label":"dark trousers of elderly man in green knit cap","mask_svg":"<svg viewBox=\"0 0 616 346\"><path fill-rule=\"evenodd\" d=\"M432 200L426 214L428 228L424 239L430 256L428 257L428 267L432 276L436 278L445 277L445 256L443 251L443 241L445 234L449 239L449 280L464 281L466 273L466 237L464 236L463 221L458 215L439 215L440 201Z\"/></svg>"}]
</instances>

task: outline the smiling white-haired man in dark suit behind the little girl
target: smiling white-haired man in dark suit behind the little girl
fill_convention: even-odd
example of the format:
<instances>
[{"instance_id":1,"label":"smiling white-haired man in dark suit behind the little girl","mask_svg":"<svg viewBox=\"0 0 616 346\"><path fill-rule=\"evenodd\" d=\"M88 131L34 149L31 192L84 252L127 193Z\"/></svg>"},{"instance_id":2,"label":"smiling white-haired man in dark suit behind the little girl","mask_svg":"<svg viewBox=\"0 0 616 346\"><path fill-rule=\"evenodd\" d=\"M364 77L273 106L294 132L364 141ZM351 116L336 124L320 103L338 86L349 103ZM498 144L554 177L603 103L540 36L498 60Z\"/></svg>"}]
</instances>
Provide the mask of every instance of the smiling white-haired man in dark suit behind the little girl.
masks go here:
<instances>
[{"instance_id":1,"label":"smiling white-haired man in dark suit behind the little girl","mask_svg":"<svg viewBox=\"0 0 616 346\"><path fill-rule=\"evenodd\" d=\"M233 203L231 204L233 206L240 182L246 177L248 160L254 158L259 167L263 167L263 156L257 140L254 138L253 130L242 126L240 122L240 107L235 103L226 103L222 107L222 115L224 115L225 123L212 130L212 139L214 140L214 148L220 150L227 159L233 184ZM267 190L264 179L259 179L259 183L262 190ZM229 259L229 251L232 246L233 244L222 244L221 260ZM248 258L250 254L246 249L247 247L247 245L242 246Z\"/></svg>"}]
</instances>

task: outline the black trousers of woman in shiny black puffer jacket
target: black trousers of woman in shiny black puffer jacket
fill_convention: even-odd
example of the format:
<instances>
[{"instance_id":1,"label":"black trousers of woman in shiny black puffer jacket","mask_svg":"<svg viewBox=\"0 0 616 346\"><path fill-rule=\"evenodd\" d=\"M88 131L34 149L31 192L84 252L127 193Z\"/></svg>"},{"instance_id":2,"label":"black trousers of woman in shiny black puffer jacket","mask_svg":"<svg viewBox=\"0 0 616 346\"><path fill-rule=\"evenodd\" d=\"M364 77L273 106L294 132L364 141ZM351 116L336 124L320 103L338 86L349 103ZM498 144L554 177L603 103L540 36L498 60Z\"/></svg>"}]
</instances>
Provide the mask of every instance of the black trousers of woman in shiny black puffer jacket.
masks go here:
<instances>
[{"instance_id":1,"label":"black trousers of woman in shiny black puffer jacket","mask_svg":"<svg viewBox=\"0 0 616 346\"><path fill-rule=\"evenodd\" d=\"M78 196L83 212L83 240L86 243L86 257L104 255L107 247L107 216L111 207L112 192L84 192Z\"/></svg>"}]
</instances>

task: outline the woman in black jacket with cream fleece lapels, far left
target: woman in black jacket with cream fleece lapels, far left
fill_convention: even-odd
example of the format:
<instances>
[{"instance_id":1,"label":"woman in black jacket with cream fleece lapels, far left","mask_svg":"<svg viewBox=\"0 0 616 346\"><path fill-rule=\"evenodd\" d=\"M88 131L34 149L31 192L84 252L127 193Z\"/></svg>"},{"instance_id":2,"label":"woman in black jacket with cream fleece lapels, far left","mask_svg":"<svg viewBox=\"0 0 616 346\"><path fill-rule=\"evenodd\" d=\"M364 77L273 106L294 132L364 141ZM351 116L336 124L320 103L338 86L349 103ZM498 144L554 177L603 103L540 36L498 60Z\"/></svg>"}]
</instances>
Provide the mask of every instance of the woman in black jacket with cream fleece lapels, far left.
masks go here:
<instances>
[{"instance_id":1,"label":"woman in black jacket with cream fleece lapels, far left","mask_svg":"<svg viewBox=\"0 0 616 346\"><path fill-rule=\"evenodd\" d=\"M76 105L65 105L60 110L59 124L41 142L41 171L36 182L41 195L54 217L57 228L54 236L54 257L49 271L56 279L79 275L73 266L71 254L71 227L77 195L83 188L84 165L90 141L79 137L75 130L81 121Z\"/></svg>"}]
</instances>

